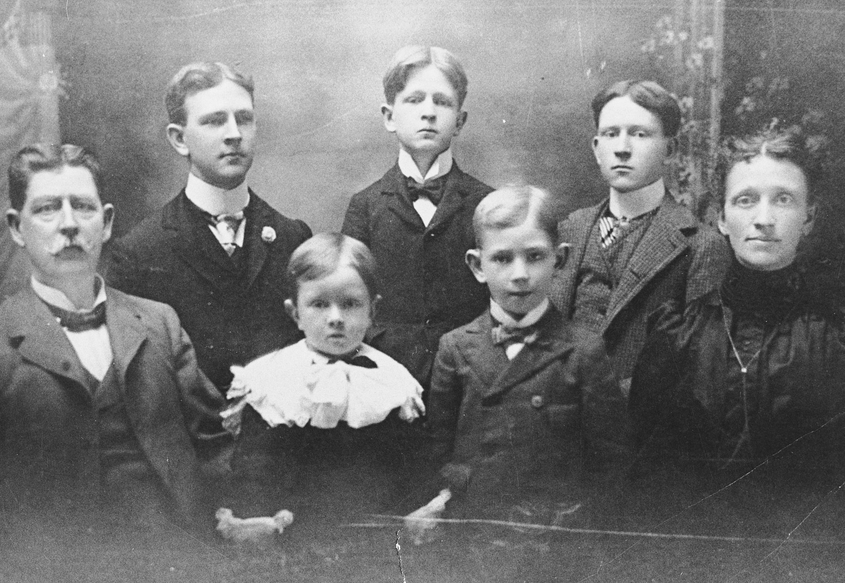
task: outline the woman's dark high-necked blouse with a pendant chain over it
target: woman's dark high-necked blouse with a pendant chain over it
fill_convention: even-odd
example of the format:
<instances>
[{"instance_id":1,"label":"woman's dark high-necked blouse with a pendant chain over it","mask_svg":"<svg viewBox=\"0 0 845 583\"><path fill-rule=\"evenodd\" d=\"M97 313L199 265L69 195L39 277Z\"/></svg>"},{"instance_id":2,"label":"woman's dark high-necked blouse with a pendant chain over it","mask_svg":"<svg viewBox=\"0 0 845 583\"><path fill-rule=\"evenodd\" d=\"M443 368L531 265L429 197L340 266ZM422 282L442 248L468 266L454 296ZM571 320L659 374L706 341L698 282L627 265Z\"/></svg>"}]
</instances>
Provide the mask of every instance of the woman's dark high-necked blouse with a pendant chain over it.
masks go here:
<instances>
[{"instance_id":1,"label":"woman's dark high-necked blouse with a pendant chain over it","mask_svg":"<svg viewBox=\"0 0 845 583\"><path fill-rule=\"evenodd\" d=\"M842 313L813 301L794 267L734 260L720 290L684 313L662 306L650 329L630 394L641 456L724 463L845 449Z\"/></svg>"}]
</instances>

